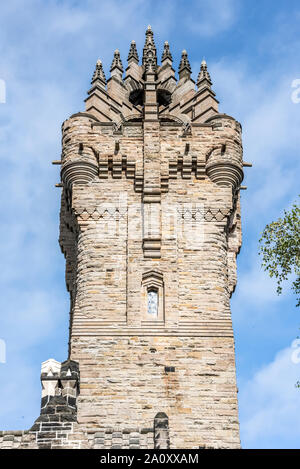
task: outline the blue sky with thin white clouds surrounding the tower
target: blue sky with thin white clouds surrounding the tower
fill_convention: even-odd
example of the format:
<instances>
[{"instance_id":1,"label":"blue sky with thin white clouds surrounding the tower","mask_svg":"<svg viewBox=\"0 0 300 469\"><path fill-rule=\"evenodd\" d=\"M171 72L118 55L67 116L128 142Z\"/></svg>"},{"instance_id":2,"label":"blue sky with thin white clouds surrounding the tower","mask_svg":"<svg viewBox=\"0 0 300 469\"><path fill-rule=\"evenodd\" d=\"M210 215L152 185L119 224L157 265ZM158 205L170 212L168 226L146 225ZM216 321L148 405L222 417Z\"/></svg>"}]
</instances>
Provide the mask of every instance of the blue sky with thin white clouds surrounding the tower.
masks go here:
<instances>
[{"instance_id":1,"label":"blue sky with thin white clouds surrounding the tower","mask_svg":"<svg viewBox=\"0 0 300 469\"><path fill-rule=\"evenodd\" d=\"M194 76L205 57L220 111L243 126L243 247L232 299L244 448L300 447L300 310L260 268L263 227L299 194L300 4L261 0L10 0L1 4L0 429L25 429L39 414L40 365L67 356L69 301L57 243L60 126L84 109L95 62L108 75L152 25L175 67L187 49ZM159 52L160 54L160 52Z\"/></svg>"}]
</instances>

